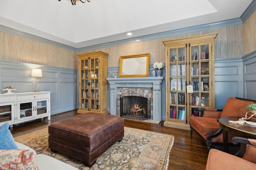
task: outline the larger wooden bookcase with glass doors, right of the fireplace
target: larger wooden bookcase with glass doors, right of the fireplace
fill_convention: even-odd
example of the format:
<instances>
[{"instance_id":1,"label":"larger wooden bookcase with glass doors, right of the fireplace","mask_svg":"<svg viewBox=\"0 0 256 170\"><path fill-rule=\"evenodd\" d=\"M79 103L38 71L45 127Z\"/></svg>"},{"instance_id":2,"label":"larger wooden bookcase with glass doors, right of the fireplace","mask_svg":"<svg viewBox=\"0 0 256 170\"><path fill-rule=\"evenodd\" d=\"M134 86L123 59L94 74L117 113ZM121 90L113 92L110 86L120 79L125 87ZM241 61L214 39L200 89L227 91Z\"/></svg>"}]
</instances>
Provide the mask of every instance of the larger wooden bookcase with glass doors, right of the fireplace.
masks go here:
<instances>
[{"instance_id":1,"label":"larger wooden bookcase with glass doors, right of the fireplace","mask_svg":"<svg viewBox=\"0 0 256 170\"><path fill-rule=\"evenodd\" d=\"M164 41L166 46L166 121L189 130L190 116L214 107L214 39L217 33ZM187 88L190 86L192 92Z\"/></svg>"}]
</instances>

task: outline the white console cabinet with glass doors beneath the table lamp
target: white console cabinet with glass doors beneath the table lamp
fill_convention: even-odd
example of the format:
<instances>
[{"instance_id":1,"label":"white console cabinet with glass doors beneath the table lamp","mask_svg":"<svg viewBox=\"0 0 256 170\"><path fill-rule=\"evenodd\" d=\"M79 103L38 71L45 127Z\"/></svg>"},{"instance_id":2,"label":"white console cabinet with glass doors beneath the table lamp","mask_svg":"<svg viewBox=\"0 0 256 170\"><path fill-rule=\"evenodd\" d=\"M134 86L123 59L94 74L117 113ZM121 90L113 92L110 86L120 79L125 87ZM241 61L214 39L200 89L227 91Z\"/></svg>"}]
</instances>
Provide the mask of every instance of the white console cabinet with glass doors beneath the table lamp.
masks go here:
<instances>
[{"instance_id":1,"label":"white console cabinet with glass doors beneath the table lamp","mask_svg":"<svg viewBox=\"0 0 256 170\"><path fill-rule=\"evenodd\" d=\"M50 120L50 92L0 94L0 125L10 126L43 117Z\"/></svg>"}]
</instances>

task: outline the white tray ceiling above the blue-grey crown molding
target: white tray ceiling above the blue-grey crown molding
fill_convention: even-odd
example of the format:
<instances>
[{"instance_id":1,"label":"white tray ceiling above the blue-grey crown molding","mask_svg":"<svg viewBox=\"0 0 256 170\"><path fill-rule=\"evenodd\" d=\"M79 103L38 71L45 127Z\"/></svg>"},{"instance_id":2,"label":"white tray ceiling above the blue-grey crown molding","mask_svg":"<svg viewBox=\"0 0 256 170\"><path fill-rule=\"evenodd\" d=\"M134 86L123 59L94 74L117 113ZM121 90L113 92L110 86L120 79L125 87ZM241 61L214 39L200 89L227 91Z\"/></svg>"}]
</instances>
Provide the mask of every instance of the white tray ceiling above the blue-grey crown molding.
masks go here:
<instances>
[{"instance_id":1,"label":"white tray ceiling above the blue-grey crown molding","mask_svg":"<svg viewBox=\"0 0 256 170\"><path fill-rule=\"evenodd\" d=\"M251 2L91 0L73 6L70 0L4 0L0 25L82 48L239 18Z\"/></svg>"}]
</instances>

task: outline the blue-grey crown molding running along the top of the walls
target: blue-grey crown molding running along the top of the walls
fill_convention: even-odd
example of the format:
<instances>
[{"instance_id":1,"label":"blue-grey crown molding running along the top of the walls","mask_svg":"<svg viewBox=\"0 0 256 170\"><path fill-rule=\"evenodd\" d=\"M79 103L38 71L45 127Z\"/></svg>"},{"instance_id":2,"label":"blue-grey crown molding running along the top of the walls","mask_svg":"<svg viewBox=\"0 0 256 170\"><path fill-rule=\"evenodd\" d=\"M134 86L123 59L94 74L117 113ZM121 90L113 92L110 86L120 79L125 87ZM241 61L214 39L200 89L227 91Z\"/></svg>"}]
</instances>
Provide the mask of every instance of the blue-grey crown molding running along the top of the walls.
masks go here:
<instances>
[{"instance_id":1,"label":"blue-grey crown molding running along the top of the walls","mask_svg":"<svg viewBox=\"0 0 256 170\"><path fill-rule=\"evenodd\" d=\"M103 43L103 44L99 44L99 45L93 45L93 46L82 47L82 48L74 48L74 47L71 47L68 45L64 45L62 43L58 43L55 41L51 41L49 39L38 37L36 35L32 35L32 34L29 34L29 33L23 32L23 31L19 31L17 29L12 29L12 28L6 27L4 25L0 25L0 31L4 31L4 32L11 33L14 35L19 35L22 37L26 37L26 38L33 39L36 41L54 45L57 47L68 49L71 51L80 52L80 51L87 51L87 50L110 47L110 46L115 46L115 45L122 45L122 44L127 44L127 43L135 43L135 42L138 42L138 40L146 41L146 40L151 40L151 39L170 37L170 36L174 36L174 35L182 35L182 34L186 34L186 33L205 31L205 30L209 30L209 29L217 29L217 28L222 28L222 27L240 25L245 20L247 20L255 10L256 10L256 0L253 0L252 3L250 4L250 6L248 6L246 11L242 14L242 16L240 18L224 20L224 21L215 22L215 23L208 23L208 24L203 24L203 25L197 25L197 26L193 26L193 27L186 27L186 28L182 28L182 29L175 29L175 30L154 33L154 34L144 35L144 36L140 36L140 37L133 37L130 39L123 39L123 40L119 40L119 41L113 41L113 42L109 42L109 43Z\"/></svg>"}]
</instances>

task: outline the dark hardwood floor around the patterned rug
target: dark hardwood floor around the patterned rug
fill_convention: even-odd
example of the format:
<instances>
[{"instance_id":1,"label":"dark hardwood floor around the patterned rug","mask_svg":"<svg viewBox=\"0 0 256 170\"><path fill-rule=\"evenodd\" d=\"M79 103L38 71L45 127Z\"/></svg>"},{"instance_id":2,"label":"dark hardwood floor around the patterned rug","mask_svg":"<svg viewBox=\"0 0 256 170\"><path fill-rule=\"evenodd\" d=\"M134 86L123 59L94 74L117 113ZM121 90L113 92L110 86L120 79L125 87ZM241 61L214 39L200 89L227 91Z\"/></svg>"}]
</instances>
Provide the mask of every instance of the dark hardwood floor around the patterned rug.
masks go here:
<instances>
[{"instance_id":1,"label":"dark hardwood floor around the patterned rug","mask_svg":"<svg viewBox=\"0 0 256 170\"><path fill-rule=\"evenodd\" d=\"M50 121L48 121L47 118L44 118L22 123L11 128L11 132L13 137L17 137L43 129L48 127L50 123L54 123L68 117L73 117L75 115L77 115L77 111L69 111L52 116ZM205 169L208 149L206 148L206 144L196 133L193 133L193 138L191 138L190 131L164 127L163 122L160 124L153 124L125 119L124 126L174 135L174 145L170 152L168 170Z\"/></svg>"}]
</instances>

